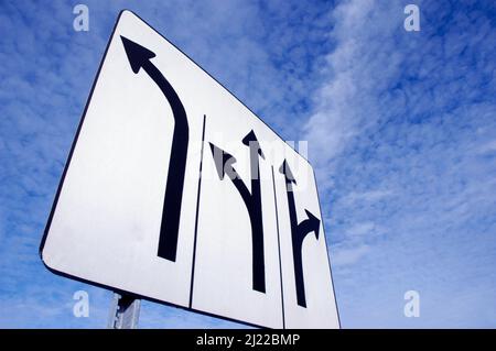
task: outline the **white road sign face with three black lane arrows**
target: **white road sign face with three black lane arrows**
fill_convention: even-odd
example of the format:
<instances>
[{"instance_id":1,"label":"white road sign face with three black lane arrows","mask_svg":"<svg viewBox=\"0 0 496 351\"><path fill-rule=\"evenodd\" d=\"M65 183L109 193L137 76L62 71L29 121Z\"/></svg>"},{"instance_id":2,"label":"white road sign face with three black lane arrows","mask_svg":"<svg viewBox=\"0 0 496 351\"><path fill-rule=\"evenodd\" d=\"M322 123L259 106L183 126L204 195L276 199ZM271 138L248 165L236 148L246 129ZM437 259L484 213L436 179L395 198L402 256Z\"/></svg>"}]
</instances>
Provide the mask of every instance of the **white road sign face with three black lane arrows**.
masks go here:
<instances>
[{"instance_id":1,"label":"white road sign face with three black lane arrows","mask_svg":"<svg viewBox=\"0 0 496 351\"><path fill-rule=\"evenodd\" d=\"M310 164L122 11L41 244L54 273L270 328L338 328Z\"/></svg>"}]
</instances>

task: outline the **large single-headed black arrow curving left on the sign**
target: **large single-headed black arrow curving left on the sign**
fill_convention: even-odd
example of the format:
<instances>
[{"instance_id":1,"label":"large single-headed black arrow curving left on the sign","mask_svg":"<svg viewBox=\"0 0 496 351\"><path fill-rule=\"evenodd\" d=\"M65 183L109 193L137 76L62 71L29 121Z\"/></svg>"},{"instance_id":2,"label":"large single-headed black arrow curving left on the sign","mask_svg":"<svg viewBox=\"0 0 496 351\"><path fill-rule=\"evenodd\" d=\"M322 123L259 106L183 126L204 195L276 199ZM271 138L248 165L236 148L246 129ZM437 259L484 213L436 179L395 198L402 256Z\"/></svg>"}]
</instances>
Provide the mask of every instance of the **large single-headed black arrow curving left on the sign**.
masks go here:
<instances>
[{"instance_id":1,"label":"large single-headed black arrow curving left on the sign","mask_svg":"<svg viewBox=\"0 0 496 351\"><path fill-rule=\"evenodd\" d=\"M175 262L184 174L186 169L187 144L190 141L190 128L187 125L186 111L174 88L155 65L150 62L150 58L155 57L155 54L127 37L120 37L132 72L138 74L140 68L143 68L150 78L159 86L160 90L162 90L174 116L174 132L172 136L168 182L165 185L165 197L162 208L158 255Z\"/></svg>"}]
</instances>

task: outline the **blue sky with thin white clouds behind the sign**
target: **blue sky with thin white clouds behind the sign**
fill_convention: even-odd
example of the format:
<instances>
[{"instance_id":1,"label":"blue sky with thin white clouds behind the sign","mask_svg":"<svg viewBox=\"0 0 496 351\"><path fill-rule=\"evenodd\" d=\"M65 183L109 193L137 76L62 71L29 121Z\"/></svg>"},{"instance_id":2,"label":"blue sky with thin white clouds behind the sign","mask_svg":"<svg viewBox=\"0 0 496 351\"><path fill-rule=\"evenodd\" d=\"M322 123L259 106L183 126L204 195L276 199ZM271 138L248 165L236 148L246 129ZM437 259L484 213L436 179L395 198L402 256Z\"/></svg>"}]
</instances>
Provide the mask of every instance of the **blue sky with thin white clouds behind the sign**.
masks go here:
<instances>
[{"instance_id":1,"label":"blue sky with thin white clouds behind the sign","mask_svg":"<svg viewBox=\"0 0 496 351\"><path fill-rule=\"evenodd\" d=\"M53 275L37 248L123 8L309 141L344 328L496 327L493 1L85 1L89 32L76 3L0 2L0 327L106 326L111 293ZM140 326L240 327L151 303Z\"/></svg>"}]
</instances>

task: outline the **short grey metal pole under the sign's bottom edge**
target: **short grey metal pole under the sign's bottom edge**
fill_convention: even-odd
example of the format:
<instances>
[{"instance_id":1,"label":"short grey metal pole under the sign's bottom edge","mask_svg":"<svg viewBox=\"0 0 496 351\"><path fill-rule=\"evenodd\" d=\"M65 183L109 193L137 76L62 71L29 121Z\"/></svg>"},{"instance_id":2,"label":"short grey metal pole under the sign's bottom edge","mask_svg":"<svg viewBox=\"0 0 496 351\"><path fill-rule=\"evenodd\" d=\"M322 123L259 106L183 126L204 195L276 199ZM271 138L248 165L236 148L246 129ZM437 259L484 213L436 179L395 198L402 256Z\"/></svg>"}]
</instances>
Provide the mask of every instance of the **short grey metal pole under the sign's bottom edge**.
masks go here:
<instances>
[{"instance_id":1,"label":"short grey metal pole under the sign's bottom edge","mask_svg":"<svg viewBox=\"0 0 496 351\"><path fill-rule=\"evenodd\" d=\"M108 317L109 329L136 329L140 316L140 299L114 293Z\"/></svg>"}]
</instances>

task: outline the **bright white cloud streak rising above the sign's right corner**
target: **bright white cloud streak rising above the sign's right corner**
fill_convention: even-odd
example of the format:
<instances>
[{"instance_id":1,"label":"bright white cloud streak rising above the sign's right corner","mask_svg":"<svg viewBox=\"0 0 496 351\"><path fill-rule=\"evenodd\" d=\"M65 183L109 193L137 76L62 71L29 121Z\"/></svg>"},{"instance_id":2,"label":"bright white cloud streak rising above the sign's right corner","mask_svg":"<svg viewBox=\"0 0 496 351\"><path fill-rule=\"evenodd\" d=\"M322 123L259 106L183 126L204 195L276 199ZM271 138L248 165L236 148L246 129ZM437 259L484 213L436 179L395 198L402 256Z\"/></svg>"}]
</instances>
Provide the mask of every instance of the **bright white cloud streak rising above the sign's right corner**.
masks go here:
<instances>
[{"instance_id":1,"label":"bright white cloud streak rising above the sign's right corner","mask_svg":"<svg viewBox=\"0 0 496 351\"><path fill-rule=\"evenodd\" d=\"M315 111L305 127L317 167L333 163L355 135L380 118L378 96L398 74L400 59L388 41L374 43L398 23L399 9L397 3L343 1L332 12L336 47L322 69L328 79L314 98ZM388 65L379 67L386 57Z\"/></svg>"}]
</instances>

